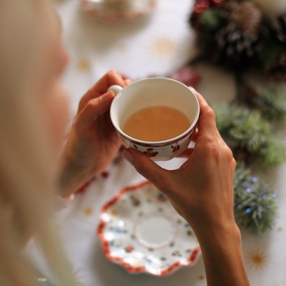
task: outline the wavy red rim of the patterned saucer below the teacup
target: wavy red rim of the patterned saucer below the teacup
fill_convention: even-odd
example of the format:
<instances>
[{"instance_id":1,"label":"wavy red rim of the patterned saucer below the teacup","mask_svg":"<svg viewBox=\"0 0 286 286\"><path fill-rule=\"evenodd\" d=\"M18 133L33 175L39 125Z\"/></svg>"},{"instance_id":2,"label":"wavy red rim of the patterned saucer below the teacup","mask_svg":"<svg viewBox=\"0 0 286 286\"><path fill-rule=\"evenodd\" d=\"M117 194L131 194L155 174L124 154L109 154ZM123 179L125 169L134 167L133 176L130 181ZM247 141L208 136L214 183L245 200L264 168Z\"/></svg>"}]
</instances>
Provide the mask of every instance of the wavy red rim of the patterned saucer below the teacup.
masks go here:
<instances>
[{"instance_id":1,"label":"wavy red rim of the patterned saucer below the teacup","mask_svg":"<svg viewBox=\"0 0 286 286\"><path fill-rule=\"evenodd\" d=\"M120 191L118 191L116 193L116 195L111 200L106 202L106 204L104 204L104 207L102 207L101 218L99 221L99 226L97 227L97 236L102 241L102 246L103 246L104 254L105 254L106 258L113 261L114 263L118 263L118 264L122 265L128 272L131 272L131 273L146 272L149 274L153 274L153 273L150 273L149 271L147 271L146 267L144 267L144 266L143 267L133 267L133 266L129 265L128 263L124 263L122 258L117 258L117 257L111 256L110 250L109 250L109 243L104 238L103 231L104 231L104 227L106 225L106 222L104 222L104 220L102 220L102 214L105 213L109 207L113 206L118 200L120 200L120 197L122 195L124 195L125 193L136 191L137 189L140 189L140 188L142 188L148 184L151 184L151 182L146 180L144 182L140 182L139 184L127 186L127 187L120 189ZM180 262L173 263L173 265L171 265L168 269L161 271L158 274L153 274L153 275L164 276L167 274L171 274L178 267L192 265L196 262L199 253L200 253L200 247L198 246L195 249L193 249L193 251L191 252L191 255L187 259L187 263L186 263L186 260L184 260L184 263L180 263Z\"/></svg>"}]
</instances>

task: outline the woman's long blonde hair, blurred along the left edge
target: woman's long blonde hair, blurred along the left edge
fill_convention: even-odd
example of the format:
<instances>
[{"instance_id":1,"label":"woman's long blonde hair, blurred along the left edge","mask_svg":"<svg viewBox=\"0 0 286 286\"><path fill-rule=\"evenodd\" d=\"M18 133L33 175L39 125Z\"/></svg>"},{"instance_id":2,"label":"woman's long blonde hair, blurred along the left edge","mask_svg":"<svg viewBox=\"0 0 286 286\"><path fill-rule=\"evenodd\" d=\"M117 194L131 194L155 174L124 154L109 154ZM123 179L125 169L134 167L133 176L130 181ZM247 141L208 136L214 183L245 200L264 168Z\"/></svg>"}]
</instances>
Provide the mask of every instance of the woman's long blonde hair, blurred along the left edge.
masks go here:
<instances>
[{"instance_id":1,"label":"woman's long blonde hair, blurred along the left edge","mask_svg":"<svg viewBox=\"0 0 286 286\"><path fill-rule=\"evenodd\" d=\"M37 285L21 254L32 233L59 285L73 285L50 221L57 170L37 95L45 44L37 17L48 5L46 0L0 1L0 285Z\"/></svg>"}]
</instances>

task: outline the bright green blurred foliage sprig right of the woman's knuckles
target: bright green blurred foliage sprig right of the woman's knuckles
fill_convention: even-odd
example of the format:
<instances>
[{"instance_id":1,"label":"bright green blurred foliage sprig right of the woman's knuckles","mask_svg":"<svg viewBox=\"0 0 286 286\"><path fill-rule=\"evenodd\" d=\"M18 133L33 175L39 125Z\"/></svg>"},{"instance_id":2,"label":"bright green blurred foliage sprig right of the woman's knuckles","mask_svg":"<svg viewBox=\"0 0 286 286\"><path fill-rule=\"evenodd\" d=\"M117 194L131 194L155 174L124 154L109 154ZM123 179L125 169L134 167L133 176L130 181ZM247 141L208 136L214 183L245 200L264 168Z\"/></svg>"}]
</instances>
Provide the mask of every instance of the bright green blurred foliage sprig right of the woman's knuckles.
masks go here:
<instances>
[{"instance_id":1,"label":"bright green blurred foliage sprig right of the woman's knuckles","mask_svg":"<svg viewBox=\"0 0 286 286\"><path fill-rule=\"evenodd\" d=\"M275 166L285 160L285 146L276 139L269 122L259 111L238 104L216 106L216 123L233 154L247 154L247 160Z\"/></svg>"}]
</instances>

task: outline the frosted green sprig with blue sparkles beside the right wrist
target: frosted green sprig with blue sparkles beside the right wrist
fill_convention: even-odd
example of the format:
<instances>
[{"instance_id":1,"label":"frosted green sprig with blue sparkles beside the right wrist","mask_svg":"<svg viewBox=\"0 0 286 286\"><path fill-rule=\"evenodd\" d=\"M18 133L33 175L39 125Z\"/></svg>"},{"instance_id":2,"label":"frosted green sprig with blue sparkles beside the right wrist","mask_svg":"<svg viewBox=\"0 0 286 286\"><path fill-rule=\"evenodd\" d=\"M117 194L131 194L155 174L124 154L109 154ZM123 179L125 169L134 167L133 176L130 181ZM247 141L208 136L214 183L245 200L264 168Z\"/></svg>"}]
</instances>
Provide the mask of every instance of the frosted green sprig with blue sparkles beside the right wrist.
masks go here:
<instances>
[{"instance_id":1,"label":"frosted green sprig with blue sparkles beside the right wrist","mask_svg":"<svg viewBox=\"0 0 286 286\"><path fill-rule=\"evenodd\" d=\"M276 197L250 169L238 164L234 176L234 214L239 227L255 234L271 229L277 218Z\"/></svg>"}]
</instances>

